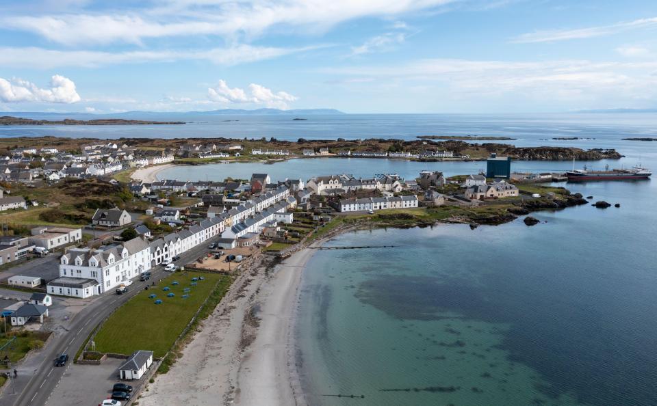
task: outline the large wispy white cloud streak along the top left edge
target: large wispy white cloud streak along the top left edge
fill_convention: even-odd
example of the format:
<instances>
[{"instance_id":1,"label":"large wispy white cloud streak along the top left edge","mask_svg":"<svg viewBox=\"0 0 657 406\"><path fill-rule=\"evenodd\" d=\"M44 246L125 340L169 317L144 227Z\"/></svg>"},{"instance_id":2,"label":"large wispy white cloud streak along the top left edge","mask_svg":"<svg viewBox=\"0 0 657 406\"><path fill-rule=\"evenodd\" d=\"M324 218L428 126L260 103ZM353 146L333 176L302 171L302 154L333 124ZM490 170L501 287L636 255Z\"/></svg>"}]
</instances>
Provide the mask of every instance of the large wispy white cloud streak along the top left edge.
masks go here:
<instances>
[{"instance_id":1,"label":"large wispy white cloud streak along the top left edge","mask_svg":"<svg viewBox=\"0 0 657 406\"><path fill-rule=\"evenodd\" d=\"M36 33L60 44L141 44L172 36L257 36L273 27L326 30L366 16L391 17L454 0L169 0L131 14L57 14L0 18L5 29ZM164 5L162 5L164 4Z\"/></svg>"}]
</instances>

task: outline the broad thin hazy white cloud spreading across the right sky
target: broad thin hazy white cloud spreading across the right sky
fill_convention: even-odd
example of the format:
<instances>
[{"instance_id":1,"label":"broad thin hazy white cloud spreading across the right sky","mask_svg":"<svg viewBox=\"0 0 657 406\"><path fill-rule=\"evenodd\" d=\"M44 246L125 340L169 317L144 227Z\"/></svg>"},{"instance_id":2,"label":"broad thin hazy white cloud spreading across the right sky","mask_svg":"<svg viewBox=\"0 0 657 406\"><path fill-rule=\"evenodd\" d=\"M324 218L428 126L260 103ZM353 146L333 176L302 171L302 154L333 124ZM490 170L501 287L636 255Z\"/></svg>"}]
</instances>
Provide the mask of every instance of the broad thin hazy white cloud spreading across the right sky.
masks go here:
<instances>
[{"instance_id":1,"label":"broad thin hazy white cloud spreading across the right sky","mask_svg":"<svg viewBox=\"0 0 657 406\"><path fill-rule=\"evenodd\" d=\"M557 60L546 62L471 61L422 59L394 66L324 68L322 72L353 79L376 79L378 87L395 87L403 94L412 86L423 86L429 100L513 98L543 103L604 103L655 100L657 62L589 62Z\"/></svg>"}]
</instances>

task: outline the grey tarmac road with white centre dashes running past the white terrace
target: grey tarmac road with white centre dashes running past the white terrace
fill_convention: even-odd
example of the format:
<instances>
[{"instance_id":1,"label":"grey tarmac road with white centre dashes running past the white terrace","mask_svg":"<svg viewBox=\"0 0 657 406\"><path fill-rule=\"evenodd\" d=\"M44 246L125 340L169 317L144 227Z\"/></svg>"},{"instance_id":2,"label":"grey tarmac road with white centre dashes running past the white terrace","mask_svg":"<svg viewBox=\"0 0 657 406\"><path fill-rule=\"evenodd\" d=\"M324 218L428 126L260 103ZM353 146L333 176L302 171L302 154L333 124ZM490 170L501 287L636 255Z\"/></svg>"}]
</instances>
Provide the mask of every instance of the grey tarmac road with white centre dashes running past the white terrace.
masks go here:
<instances>
[{"instance_id":1,"label":"grey tarmac road with white centre dashes running past the white terrace","mask_svg":"<svg viewBox=\"0 0 657 406\"><path fill-rule=\"evenodd\" d=\"M176 265L188 264L196 260L196 258L207 254L209 252L207 245L211 241L216 241L216 239L218 237L205 241L199 244L198 247L185 252L181 255L180 260L176 262ZM0 397L0 406L45 405L68 369L68 364L65 367L55 368L53 366L55 358L62 353L68 353L70 356L69 363L73 362L75 353L77 353L77 350L82 346L84 340L86 340L96 325L99 325L114 310L143 290L147 285L170 275L170 273L162 270L161 266L151 269L151 272L153 274L151 280L145 282L136 280L130 286L127 294L113 295L112 293L106 293L77 313L68 331L53 337L53 341L49 342L42 353L39 354L40 364L36 366L29 380L23 380L21 383L21 379L18 379L15 384L15 394L12 393L12 388L5 389ZM29 373L28 371L21 370L21 374ZM14 383L8 382L8 385L14 385ZM83 388L80 390L83 390Z\"/></svg>"}]
</instances>

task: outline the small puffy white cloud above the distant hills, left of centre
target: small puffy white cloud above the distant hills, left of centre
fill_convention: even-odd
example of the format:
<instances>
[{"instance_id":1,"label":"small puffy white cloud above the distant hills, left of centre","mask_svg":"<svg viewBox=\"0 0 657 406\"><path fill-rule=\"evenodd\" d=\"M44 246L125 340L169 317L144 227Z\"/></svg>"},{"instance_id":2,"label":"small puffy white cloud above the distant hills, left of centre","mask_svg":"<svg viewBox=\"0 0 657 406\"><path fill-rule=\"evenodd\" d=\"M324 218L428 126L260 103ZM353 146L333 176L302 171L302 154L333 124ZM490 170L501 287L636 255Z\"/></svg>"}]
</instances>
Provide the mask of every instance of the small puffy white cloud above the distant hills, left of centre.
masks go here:
<instances>
[{"instance_id":1,"label":"small puffy white cloud above the distant hills, left of centre","mask_svg":"<svg viewBox=\"0 0 657 406\"><path fill-rule=\"evenodd\" d=\"M224 80L220 80L215 87L209 87L207 96L210 100L220 103L253 103L279 109L287 109L289 107L287 103L297 100L292 94L274 93L271 89L255 83L248 85L247 90L240 87L231 88Z\"/></svg>"}]
</instances>

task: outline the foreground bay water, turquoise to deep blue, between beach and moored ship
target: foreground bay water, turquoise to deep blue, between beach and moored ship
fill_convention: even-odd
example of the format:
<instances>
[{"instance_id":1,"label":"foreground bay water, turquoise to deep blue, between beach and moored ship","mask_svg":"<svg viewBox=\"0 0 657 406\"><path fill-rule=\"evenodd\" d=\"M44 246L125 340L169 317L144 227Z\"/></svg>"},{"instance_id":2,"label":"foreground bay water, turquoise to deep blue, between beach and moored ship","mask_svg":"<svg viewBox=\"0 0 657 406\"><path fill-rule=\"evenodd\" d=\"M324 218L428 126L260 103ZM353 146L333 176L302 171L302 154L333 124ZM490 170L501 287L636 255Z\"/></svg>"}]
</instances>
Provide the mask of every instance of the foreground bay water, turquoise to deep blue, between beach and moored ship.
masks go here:
<instances>
[{"instance_id":1,"label":"foreground bay water, turquoise to deep blue, between beach and moored ship","mask_svg":"<svg viewBox=\"0 0 657 406\"><path fill-rule=\"evenodd\" d=\"M311 404L657 404L654 182L569 187L621 208L330 241L396 247L309 262L296 334Z\"/></svg>"}]
</instances>

